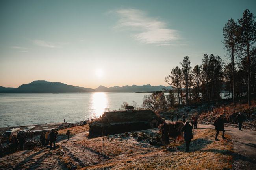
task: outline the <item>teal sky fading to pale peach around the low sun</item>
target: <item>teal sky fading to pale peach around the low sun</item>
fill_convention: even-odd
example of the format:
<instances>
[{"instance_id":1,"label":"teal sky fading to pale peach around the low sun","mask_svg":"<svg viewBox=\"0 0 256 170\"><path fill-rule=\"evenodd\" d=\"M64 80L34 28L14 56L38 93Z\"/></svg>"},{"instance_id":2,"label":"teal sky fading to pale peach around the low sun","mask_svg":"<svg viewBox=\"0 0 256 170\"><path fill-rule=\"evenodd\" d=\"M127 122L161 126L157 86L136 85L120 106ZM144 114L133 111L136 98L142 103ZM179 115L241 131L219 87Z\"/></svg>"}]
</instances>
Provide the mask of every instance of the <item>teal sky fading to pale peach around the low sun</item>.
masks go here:
<instances>
[{"instance_id":1,"label":"teal sky fading to pale peach around the low sun","mask_svg":"<svg viewBox=\"0 0 256 170\"><path fill-rule=\"evenodd\" d=\"M165 85L184 56L225 59L222 28L255 0L1 0L0 86Z\"/></svg>"}]
</instances>

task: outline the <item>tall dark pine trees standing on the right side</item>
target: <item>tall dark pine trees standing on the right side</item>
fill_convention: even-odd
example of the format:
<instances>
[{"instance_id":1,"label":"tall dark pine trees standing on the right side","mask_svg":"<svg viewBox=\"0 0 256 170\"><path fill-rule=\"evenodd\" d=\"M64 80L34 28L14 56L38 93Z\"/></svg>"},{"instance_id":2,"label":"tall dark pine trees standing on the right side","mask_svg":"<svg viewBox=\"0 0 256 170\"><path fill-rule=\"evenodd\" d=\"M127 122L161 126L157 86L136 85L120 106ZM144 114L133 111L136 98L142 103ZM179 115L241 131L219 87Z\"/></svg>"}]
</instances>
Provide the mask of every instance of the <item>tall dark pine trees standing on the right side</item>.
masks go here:
<instances>
[{"instance_id":1,"label":"tall dark pine trees standing on the right side","mask_svg":"<svg viewBox=\"0 0 256 170\"><path fill-rule=\"evenodd\" d=\"M228 20L223 27L224 61L219 55L204 54L202 64L191 67L189 56L171 69L165 81L173 87L166 99L169 106L222 98L222 92L236 99L247 99L256 93L256 22L246 9L236 22ZM223 88L224 87L224 88Z\"/></svg>"}]
</instances>

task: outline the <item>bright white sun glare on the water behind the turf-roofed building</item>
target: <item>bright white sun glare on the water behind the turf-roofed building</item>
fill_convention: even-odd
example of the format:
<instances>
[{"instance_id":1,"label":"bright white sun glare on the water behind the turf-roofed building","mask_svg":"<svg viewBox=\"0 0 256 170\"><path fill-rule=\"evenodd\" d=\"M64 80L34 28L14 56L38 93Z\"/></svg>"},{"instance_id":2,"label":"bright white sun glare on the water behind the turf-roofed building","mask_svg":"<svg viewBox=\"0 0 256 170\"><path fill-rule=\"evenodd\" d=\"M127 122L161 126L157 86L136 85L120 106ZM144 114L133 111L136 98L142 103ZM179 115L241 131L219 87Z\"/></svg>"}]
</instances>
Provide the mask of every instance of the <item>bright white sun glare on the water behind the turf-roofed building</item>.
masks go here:
<instances>
[{"instance_id":1,"label":"bright white sun glare on the water behind the turf-roofed building","mask_svg":"<svg viewBox=\"0 0 256 170\"><path fill-rule=\"evenodd\" d=\"M102 115L104 112L106 112L107 110L107 103L108 103L108 99L107 99L107 95L106 93L93 93L93 114L96 117L99 117L100 115Z\"/></svg>"}]
</instances>

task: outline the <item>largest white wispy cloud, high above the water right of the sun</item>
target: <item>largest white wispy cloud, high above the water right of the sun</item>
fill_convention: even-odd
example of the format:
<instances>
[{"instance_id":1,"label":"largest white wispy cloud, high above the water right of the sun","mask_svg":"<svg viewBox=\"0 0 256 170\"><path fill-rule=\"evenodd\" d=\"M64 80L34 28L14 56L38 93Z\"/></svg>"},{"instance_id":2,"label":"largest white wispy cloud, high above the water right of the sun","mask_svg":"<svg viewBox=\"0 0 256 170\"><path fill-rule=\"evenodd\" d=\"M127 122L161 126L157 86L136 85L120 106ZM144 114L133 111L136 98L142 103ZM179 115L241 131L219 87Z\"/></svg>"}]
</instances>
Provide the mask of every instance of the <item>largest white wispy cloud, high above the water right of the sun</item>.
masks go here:
<instances>
[{"instance_id":1,"label":"largest white wispy cloud, high above the water right of the sun","mask_svg":"<svg viewBox=\"0 0 256 170\"><path fill-rule=\"evenodd\" d=\"M141 43L166 46L180 39L179 31L167 28L165 22L148 17L145 12L138 9L119 9L111 13L119 17L114 28L134 31L132 37Z\"/></svg>"}]
</instances>

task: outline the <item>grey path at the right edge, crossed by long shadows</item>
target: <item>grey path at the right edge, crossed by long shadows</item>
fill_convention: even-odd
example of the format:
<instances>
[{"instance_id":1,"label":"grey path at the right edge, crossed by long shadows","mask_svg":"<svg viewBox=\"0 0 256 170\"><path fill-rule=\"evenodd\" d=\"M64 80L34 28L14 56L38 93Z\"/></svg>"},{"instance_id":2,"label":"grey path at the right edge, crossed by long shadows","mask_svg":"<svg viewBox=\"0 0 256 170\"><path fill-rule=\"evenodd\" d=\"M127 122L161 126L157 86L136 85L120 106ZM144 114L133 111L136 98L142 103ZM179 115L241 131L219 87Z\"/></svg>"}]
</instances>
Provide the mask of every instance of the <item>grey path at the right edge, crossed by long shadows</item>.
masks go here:
<instances>
[{"instance_id":1,"label":"grey path at the right edge, crossed by long shadows","mask_svg":"<svg viewBox=\"0 0 256 170\"><path fill-rule=\"evenodd\" d=\"M212 125L198 124L198 128L214 129ZM232 137L234 147L234 169L252 170L256 167L256 131L225 127L225 133ZM222 133L220 132L220 135Z\"/></svg>"}]
</instances>

